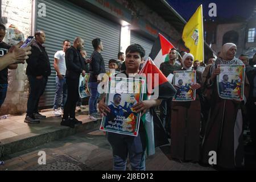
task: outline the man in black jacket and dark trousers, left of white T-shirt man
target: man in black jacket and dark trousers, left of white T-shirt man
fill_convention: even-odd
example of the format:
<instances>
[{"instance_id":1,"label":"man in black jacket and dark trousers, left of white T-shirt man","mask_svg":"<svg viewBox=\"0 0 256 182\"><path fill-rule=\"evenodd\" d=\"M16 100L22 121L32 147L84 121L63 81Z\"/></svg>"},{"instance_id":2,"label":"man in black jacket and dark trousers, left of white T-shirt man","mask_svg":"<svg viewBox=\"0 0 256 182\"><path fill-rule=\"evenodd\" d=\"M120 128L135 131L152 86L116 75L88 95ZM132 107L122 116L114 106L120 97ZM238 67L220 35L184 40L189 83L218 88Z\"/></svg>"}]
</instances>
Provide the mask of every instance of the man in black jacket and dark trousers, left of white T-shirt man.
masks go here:
<instances>
[{"instance_id":1,"label":"man in black jacket and dark trousers, left of white T-shirt man","mask_svg":"<svg viewBox=\"0 0 256 182\"><path fill-rule=\"evenodd\" d=\"M40 97L46 89L48 76L51 75L49 57L43 43L46 42L46 34L43 31L35 32L35 41L31 45L31 55L27 59L27 77L30 82L30 94L27 101L26 123L40 123L39 119L46 118L38 113Z\"/></svg>"}]
</instances>

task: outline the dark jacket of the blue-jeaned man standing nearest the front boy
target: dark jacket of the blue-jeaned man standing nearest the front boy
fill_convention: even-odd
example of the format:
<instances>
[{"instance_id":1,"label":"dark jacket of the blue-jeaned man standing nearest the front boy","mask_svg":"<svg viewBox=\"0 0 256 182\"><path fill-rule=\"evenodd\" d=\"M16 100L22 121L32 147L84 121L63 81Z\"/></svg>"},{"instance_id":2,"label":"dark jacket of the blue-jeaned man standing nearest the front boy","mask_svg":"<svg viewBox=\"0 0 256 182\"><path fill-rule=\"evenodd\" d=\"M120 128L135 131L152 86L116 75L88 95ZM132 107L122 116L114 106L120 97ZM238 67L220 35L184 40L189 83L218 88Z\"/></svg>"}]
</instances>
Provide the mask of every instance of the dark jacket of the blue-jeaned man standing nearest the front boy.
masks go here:
<instances>
[{"instance_id":1,"label":"dark jacket of the blue-jeaned man standing nearest the front boy","mask_svg":"<svg viewBox=\"0 0 256 182\"><path fill-rule=\"evenodd\" d=\"M89 82L97 82L97 76L100 73L106 73L104 59L97 51L93 51L90 59L92 59L92 62L90 63Z\"/></svg>"}]
</instances>

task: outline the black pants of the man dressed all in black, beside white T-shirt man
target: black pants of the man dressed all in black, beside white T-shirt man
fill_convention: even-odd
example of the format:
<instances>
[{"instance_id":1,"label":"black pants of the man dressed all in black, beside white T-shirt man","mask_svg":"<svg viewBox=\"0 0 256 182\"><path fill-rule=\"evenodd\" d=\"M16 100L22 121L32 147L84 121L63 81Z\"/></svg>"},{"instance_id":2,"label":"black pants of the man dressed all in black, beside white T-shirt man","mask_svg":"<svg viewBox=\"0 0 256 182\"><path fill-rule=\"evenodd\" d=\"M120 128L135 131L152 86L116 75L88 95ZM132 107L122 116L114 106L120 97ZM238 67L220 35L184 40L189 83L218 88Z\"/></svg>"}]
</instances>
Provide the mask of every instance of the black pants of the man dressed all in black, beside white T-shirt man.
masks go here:
<instances>
[{"instance_id":1,"label":"black pants of the man dressed all in black, beside white T-shirt man","mask_svg":"<svg viewBox=\"0 0 256 182\"><path fill-rule=\"evenodd\" d=\"M63 119L75 118L76 102L79 100L79 78L66 78L68 98L64 106Z\"/></svg>"}]
</instances>

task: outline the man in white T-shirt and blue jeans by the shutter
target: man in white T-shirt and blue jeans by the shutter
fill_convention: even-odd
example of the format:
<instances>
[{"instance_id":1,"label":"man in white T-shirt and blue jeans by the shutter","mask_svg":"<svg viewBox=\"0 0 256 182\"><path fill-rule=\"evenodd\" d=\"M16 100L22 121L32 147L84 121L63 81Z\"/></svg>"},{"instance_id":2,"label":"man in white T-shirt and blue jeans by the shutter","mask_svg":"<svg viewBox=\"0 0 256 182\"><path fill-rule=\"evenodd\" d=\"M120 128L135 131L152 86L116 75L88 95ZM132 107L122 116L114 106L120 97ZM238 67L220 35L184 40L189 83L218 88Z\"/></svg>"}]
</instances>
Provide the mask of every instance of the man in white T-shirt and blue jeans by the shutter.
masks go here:
<instances>
[{"instance_id":1,"label":"man in white T-shirt and blue jeans by the shutter","mask_svg":"<svg viewBox=\"0 0 256 182\"><path fill-rule=\"evenodd\" d=\"M71 47L70 41L64 40L63 49L61 51L57 51L54 55L53 67L56 71L56 92L53 103L53 114L56 117L59 117L61 114L63 114L64 105L67 101L67 84L65 81L67 68L65 63L65 52L69 47ZM59 106L60 110L58 110Z\"/></svg>"}]
</instances>

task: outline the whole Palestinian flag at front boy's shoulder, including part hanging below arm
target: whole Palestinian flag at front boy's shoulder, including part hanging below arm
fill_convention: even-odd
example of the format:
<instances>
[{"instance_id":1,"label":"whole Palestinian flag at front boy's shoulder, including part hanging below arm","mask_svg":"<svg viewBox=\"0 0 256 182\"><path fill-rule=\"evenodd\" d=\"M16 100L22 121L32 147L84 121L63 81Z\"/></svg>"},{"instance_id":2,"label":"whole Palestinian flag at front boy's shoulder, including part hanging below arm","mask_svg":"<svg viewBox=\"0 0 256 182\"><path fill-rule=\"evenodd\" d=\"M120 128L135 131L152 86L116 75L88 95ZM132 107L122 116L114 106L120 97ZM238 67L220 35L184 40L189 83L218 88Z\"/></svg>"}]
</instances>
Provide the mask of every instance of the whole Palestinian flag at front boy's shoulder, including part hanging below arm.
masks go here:
<instances>
[{"instance_id":1,"label":"whole Palestinian flag at front boy's shoulder, including part hanging below arm","mask_svg":"<svg viewBox=\"0 0 256 182\"><path fill-rule=\"evenodd\" d=\"M158 74L158 76L156 76L155 74ZM167 99L175 95L176 89L167 80L167 78L163 75L160 69L156 67L150 57L148 57L148 60L139 72L139 75L141 77L146 76L147 79L147 94L144 94L143 100L152 99L150 93L152 93L153 89L154 99ZM155 80L155 78L157 77L159 79ZM151 81L148 81L148 79L150 79ZM158 93L155 90L158 90ZM147 155L154 155L155 147L169 144L166 130L164 129L162 122L160 121L158 115L155 113L155 110L153 108L150 109L150 112L142 116L142 121L144 129L146 130Z\"/></svg>"}]
</instances>

